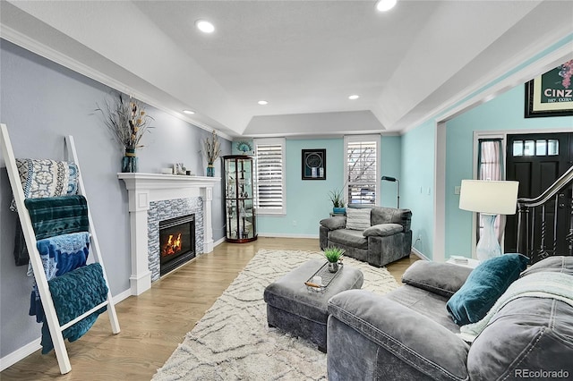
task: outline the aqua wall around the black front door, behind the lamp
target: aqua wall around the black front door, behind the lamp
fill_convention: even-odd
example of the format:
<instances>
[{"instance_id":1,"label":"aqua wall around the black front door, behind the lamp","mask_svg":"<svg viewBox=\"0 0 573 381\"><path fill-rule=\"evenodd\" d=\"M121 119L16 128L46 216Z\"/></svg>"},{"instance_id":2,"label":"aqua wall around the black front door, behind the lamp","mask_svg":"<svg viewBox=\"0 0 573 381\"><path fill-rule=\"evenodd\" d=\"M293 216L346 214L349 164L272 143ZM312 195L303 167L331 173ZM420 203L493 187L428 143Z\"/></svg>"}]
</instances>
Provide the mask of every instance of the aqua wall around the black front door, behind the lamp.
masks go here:
<instances>
[{"instance_id":1,"label":"aqua wall around the black front door, behind the lamp","mask_svg":"<svg viewBox=\"0 0 573 381\"><path fill-rule=\"evenodd\" d=\"M472 213L459 209L454 187L474 175L474 131L573 131L573 116L525 118L525 86L495 97L446 125L446 258L450 255L471 257Z\"/></svg>"}]
</instances>

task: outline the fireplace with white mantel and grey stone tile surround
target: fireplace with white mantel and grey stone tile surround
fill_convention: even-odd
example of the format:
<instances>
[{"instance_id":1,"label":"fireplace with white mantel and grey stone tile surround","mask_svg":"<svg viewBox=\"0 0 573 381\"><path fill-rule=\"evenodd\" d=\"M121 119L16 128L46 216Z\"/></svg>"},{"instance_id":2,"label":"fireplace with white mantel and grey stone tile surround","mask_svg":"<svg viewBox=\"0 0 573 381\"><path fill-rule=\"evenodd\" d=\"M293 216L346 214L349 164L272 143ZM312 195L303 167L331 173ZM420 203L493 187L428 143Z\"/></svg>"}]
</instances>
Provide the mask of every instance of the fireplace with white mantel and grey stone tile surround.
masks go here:
<instances>
[{"instance_id":1,"label":"fireplace with white mantel and grey stone tile surround","mask_svg":"<svg viewBox=\"0 0 573 381\"><path fill-rule=\"evenodd\" d=\"M132 295L149 290L151 282L167 274L161 270L160 224L192 215L192 258L213 250L211 202L213 187L220 178L141 173L117 174L117 177L125 182L129 195ZM180 260L191 260L191 254L186 254Z\"/></svg>"}]
</instances>

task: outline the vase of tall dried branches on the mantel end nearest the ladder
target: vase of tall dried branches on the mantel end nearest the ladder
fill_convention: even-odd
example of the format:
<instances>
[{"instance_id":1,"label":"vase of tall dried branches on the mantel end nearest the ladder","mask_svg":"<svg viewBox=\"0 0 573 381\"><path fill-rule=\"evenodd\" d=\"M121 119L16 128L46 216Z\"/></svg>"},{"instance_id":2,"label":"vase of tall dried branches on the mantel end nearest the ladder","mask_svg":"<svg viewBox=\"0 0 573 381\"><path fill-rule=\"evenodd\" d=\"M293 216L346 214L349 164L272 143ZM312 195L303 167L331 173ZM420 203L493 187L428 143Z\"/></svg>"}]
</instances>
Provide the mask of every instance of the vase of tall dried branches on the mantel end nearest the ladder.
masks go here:
<instances>
[{"instance_id":1,"label":"vase of tall dried branches on the mantel end nearest the ladder","mask_svg":"<svg viewBox=\"0 0 573 381\"><path fill-rule=\"evenodd\" d=\"M96 109L101 113L103 122L114 139L124 149L122 172L137 172L138 161L136 149L142 148L141 138L150 131L153 118L146 113L145 107L132 97L117 95L115 102L104 101Z\"/></svg>"}]
</instances>

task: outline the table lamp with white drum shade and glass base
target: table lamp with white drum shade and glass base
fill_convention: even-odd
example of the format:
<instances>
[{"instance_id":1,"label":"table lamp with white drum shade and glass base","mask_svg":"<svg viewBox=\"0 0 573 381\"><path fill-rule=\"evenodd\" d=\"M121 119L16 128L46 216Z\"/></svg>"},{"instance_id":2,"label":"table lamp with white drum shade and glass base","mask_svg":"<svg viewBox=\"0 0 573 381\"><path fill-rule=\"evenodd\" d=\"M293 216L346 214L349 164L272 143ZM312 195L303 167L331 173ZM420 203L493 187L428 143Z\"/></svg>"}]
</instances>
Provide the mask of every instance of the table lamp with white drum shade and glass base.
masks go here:
<instances>
[{"instance_id":1,"label":"table lamp with white drum shade and glass base","mask_svg":"<svg viewBox=\"0 0 573 381\"><path fill-rule=\"evenodd\" d=\"M515 215L519 182L462 180L459 208L483 216L483 234L477 242L475 254L479 260L499 257L500 242L495 233L497 215Z\"/></svg>"}]
</instances>

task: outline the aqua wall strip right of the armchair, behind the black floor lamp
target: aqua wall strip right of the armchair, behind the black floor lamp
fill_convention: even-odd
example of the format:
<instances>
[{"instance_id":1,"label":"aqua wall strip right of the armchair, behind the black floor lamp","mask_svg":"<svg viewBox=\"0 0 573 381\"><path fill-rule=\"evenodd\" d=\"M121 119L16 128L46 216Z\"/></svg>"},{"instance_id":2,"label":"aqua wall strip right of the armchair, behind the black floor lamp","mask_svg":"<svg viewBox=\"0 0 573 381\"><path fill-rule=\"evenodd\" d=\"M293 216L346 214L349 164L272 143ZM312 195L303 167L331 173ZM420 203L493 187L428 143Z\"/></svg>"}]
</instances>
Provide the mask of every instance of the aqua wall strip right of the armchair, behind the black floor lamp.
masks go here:
<instances>
[{"instance_id":1,"label":"aqua wall strip right of the armchair, behind the black floor lamp","mask_svg":"<svg viewBox=\"0 0 573 381\"><path fill-rule=\"evenodd\" d=\"M434 143L433 121L423 123L402 136L403 182L400 190L400 207L412 210L414 248L431 259L434 225Z\"/></svg>"}]
</instances>

